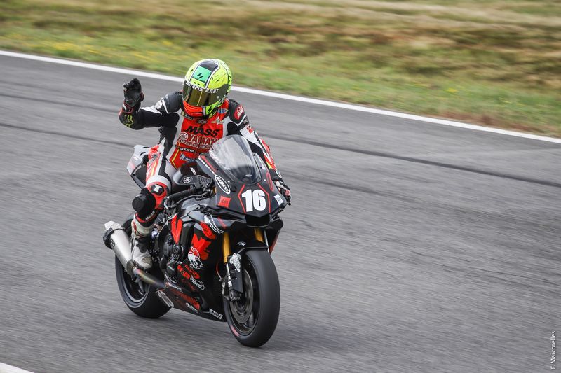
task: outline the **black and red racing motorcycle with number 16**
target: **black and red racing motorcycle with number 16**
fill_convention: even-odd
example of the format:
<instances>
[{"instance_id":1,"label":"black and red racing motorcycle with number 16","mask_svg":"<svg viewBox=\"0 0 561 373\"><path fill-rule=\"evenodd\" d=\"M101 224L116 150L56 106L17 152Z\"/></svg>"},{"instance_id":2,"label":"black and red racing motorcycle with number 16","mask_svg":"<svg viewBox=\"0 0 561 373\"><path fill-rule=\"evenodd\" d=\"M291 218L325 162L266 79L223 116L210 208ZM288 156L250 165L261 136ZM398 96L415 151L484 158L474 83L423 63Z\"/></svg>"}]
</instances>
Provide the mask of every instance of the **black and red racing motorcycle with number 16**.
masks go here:
<instances>
[{"instance_id":1,"label":"black and red racing motorcycle with number 16","mask_svg":"<svg viewBox=\"0 0 561 373\"><path fill-rule=\"evenodd\" d=\"M145 186L148 152L146 146L135 146L127 166L140 188ZM286 199L262 159L239 135L215 142L197 158L196 167L180 168L173 176L172 190L151 232L149 253L154 265L147 272L131 260L134 213L122 225L105 224L104 243L115 253L123 301L146 318L176 308L226 321L238 342L262 346L273 335L280 309L278 275L270 254L283 227L278 215ZM133 200L133 208L136 205ZM196 223L217 237L208 248L215 265L199 277L182 266L188 262Z\"/></svg>"}]
</instances>

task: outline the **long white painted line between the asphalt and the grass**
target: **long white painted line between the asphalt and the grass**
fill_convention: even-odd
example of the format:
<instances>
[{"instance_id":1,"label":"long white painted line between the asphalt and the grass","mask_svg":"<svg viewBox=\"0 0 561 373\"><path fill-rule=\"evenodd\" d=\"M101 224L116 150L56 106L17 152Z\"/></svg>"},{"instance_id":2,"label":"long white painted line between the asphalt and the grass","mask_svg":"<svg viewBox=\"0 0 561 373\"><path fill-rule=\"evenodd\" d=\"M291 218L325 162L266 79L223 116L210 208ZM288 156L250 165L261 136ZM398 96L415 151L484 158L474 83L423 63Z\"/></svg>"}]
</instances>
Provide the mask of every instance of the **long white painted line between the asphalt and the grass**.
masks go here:
<instances>
[{"instance_id":1,"label":"long white painted line between the asphalt and the grass","mask_svg":"<svg viewBox=\"0 0 561 373\"><path fill-rule=\"evenodd\" d=\"M122 68L119 68L119 67L103 66L103 65L98 65L98 64L88 64L86 62L72 61L72 60L69 60L69 59L59 59L59 58L53 58L53 57L26 55L24 53L8 52L6 50L0 50L0 55L8 56L8 57L32 59L34 61L41 61L41 62L51 62L53 64L63 64L63 65L68 65L68 66L83 67L85 69L109 71L111 73L123 73L123 74L128 74L128 75L140 76L140 77L144 77L144 78L168 80L168 81L171 81L171 82L178 82L178 83L181 83L183 81L182 78L178 78L178 77L175 77L175 76L163 75L163 74L160 74L160 73L149 73L147 71L140 71L140 70L133 70L133 69L122 69ZM277 98L277 99L287 99L287 100L292 100L292 101L305 102L306 104L332 106L334 108L344 108L344 109L353 110L353 111L363 111L365 113L386 115L386 116L394 117L394 118L416 120L418 122L432 123L432 124L435 124L435 125L445 125L445 126L450 126L450 127L473 129L475 131L492 132L494 134L504 134L504 135L508 135L508 136L522 137L522 138L525 138L525 139L547 141L547 142L550 142L550 143L561 143L561 139L555 139L554 137L538 136L538 135L535 135L535 134L525 134L524 132L508 131L507 129L483 127L483 126L480 126L480 125L470 125L468 123L455 122L454 120L429 118L429 117L424 117L424 116L421 116L421 115L399 113L397 111L388 111L388 110L382 110L382 109L378 109L378 108L368 108L366 106L344 104L343 102L333 102L333 101L325 101L325 100L321 100L321 99L311 99L309 97L292 96L290 94L268 92L268 91L262 91L262 90L254 90L253 88L238 87L238 86L232 87L232 90L236 91L236 92L242 92L242 93L248 93L248 94L258 94L259 96L274 97L274 98Z\"/></svg>"}]
</instances>

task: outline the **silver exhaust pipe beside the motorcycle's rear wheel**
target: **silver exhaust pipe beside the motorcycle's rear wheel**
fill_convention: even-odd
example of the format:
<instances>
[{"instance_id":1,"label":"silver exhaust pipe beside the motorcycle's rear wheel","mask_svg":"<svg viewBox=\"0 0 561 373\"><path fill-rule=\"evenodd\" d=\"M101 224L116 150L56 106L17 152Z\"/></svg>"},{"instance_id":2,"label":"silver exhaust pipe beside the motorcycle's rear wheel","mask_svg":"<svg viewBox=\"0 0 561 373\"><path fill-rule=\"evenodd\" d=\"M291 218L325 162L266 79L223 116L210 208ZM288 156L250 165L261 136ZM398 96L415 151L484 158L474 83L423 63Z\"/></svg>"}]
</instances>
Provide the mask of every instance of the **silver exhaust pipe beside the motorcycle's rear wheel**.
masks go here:
<instances>
[{"instance_id":1,"label":"silver exhaust pipe beside the motorcycle's rear wheel","mask_svg":"<svg viewBox=\"0 0 561 373\"><path fill-rule=\"evenodd\" d=\"M105 233L103 234L105 246L114 251L121 265L126 269L130 276L136 276L141 281L155 286L158 289L165 288L165 284L142 269L135 267L133 263L133 250L130 248L130 239L124 228L119 223L108 221L105 223Z\"/></svg>"}]
</instances>

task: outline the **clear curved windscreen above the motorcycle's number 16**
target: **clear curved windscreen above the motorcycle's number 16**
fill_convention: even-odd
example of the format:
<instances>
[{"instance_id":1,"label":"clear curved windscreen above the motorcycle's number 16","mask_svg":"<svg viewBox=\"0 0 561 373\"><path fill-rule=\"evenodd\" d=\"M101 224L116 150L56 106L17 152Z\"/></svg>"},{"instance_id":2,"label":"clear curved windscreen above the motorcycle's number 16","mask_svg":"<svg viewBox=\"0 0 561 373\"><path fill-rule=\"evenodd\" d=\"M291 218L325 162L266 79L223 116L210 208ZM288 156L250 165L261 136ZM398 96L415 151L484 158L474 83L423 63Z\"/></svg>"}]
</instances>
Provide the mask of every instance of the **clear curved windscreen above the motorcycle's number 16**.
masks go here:
<instances>
[{"instance_id":1,"label":"clear curved windscreen above the motorcycle's number 16","mask_svg":"<svg viewBox=\"0 0 561 373\"><path fill-rule=\"evenodd\" d=\"M261 180L261 172L248 141L240 135L227 136L215 142L208 155L229 178L238 183L255 184Z\"/></svg>"}]
</instances>

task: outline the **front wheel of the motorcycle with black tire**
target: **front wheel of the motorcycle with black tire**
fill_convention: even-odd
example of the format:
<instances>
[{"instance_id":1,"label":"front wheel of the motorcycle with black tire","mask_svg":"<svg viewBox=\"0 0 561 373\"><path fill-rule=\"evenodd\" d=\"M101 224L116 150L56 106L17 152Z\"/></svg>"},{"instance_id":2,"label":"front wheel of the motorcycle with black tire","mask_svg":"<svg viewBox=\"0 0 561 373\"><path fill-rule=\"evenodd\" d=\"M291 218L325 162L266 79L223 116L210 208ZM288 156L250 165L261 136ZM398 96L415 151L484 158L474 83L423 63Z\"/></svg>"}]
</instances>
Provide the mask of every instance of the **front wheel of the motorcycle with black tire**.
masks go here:
<instances>
[{"instance_id":1,"label":"front wheel of the motorcycle with black tire","mask_svg":"<svg viewBox=\"0 0 561 373\"><path fill-rule=\"evenodd\" d=\"M268 251L245 252L243 292L235 302L224 298L224 314L238 342L259 347L273 335L280 310L278 275Z\"/></svg>"}]
</instances>

